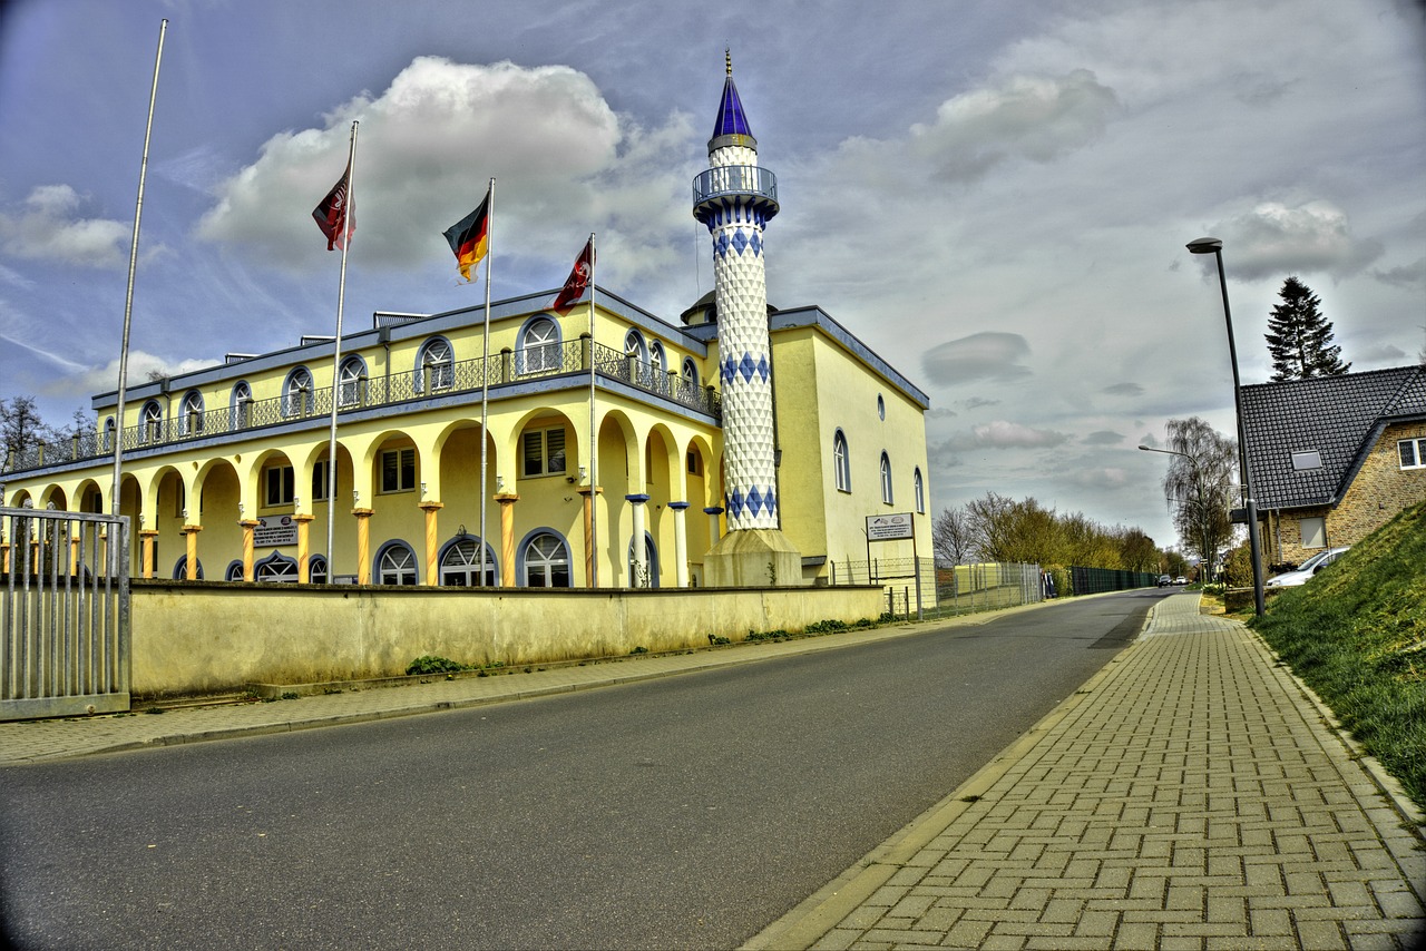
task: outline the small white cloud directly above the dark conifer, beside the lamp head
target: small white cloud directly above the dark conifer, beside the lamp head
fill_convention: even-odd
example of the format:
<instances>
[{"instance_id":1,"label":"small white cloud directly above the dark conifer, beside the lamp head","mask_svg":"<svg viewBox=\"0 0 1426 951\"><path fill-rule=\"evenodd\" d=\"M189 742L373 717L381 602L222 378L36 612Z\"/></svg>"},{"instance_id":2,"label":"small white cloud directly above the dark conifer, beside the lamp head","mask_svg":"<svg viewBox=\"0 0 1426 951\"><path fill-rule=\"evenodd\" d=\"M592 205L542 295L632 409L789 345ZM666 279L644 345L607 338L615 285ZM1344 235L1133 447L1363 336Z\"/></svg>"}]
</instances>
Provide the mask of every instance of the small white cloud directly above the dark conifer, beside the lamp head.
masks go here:
<instances>
[{"instance_id":1,"label":"small white cloud directly above the dark conifer, beside the lamp head","mask_svg":"<svg viewBox=\"0 0 1426 951\"><path fill-rule=\"evenodd\" d=\"M1313 271L1343 278L1383 252L1380 241L1353 238L1346 212L1326 201L1296 208L1265 201L1214 234L1224 235L1224 268L1246 281ZM1214 268L1212 257L1204 255L1205 272Z\"/></svg>"}]
</instances>

